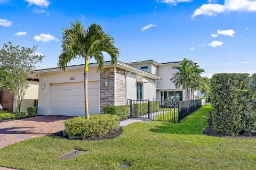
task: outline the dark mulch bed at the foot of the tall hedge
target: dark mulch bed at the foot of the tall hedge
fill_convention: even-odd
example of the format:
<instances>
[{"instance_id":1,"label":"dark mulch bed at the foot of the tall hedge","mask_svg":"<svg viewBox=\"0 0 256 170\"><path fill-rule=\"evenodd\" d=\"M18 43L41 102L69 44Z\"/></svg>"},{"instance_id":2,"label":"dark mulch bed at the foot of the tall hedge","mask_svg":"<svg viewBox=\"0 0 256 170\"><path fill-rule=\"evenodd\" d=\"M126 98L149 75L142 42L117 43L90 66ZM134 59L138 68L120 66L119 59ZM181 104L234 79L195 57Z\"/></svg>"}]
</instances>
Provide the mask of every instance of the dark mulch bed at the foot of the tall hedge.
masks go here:
<instances>
[{"instance_id":1,"label":"dark mulch bed at the foot of the tall hedge","mask_svg":"<svg viewBox=\"0 0 256 170\"><path fill-rule=\"evenodd\" d=\"M250 135L237 135L237 136L230 136L230 135L226 135L226 134L220 134L218 132L215 132L213 129L213 122L212 122L212 113L210 113L210 118L208 120L208 127L204 130L204 134L208 135L208 136L213 136L213 137L227 137L227 138L256 138L256 134L254 134L253 136Z\"/></svg>"}]
</instances>

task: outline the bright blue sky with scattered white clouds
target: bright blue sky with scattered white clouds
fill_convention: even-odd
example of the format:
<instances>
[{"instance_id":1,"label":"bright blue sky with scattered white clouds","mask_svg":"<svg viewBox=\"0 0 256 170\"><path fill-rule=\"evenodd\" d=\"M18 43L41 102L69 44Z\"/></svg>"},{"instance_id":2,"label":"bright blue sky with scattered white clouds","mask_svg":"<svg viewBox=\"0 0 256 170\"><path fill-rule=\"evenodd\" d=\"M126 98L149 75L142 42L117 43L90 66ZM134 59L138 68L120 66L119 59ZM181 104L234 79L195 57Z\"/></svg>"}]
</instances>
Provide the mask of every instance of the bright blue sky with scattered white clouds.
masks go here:
<instances>
[{"instance_id":1,"label":"bright blue sky with scattered white clouds","mask_svg":"<svg viewBox=\"0 0 256 170\"><path fill-rule=\"evenodd\" d=\"M123 62L187 57L209 77L256 72L255 0L0 0L0 44L38 45L45 55L40 68L53 67L62 29L76 20L85 27L101 24L115 38Z\"/></svg>"}]
</instances>

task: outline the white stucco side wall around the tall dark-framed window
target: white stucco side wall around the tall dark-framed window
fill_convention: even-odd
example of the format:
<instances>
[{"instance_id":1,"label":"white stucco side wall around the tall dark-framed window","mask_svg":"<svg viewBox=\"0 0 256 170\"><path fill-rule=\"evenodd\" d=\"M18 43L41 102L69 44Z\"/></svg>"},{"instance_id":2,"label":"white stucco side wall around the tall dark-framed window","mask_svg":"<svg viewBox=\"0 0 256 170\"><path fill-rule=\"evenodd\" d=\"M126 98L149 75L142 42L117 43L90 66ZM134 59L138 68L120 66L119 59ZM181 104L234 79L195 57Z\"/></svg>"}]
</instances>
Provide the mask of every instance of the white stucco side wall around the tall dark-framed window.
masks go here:
<instances>
[{"instance_id":1,"label":"white stucco side wall around the tall dark-framed window","mask_svg":"<svg viewBox=\"0 0 256 170\"><path fill-rule=\"evenodd\" d=\"M145 79L148 82L143 84L143 99L155 99L155 81L138 74L128 74L126 75L126 99L137 99L137 88L136 83L138 79ZM141 82L140 82L141 83Z\"/></svg>"}]
</instances>

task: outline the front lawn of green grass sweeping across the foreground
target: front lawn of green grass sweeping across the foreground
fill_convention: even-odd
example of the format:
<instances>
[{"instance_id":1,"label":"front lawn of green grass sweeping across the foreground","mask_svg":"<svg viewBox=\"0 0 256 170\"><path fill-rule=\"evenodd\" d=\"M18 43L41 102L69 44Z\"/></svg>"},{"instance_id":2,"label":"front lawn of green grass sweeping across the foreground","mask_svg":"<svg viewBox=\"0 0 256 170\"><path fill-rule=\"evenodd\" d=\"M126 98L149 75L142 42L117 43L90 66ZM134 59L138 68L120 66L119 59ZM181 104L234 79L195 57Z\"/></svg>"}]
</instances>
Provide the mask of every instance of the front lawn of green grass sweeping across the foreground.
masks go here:
<instances>
[{"instance_id":1,"label":"front lawn of green grass sweeping across the foreground","mask_svg":"<svg viewBox=\"0 0 256 170\"><path fill-rule=\"evenodd\" d=\"M211 106L180 123L133 123L113 140L79 141L41 137L0 150L0 166L18 169L256 169L256 139L203 134ZM73 149L84 155L57 157Z\"/></svg>"}]
</instances>

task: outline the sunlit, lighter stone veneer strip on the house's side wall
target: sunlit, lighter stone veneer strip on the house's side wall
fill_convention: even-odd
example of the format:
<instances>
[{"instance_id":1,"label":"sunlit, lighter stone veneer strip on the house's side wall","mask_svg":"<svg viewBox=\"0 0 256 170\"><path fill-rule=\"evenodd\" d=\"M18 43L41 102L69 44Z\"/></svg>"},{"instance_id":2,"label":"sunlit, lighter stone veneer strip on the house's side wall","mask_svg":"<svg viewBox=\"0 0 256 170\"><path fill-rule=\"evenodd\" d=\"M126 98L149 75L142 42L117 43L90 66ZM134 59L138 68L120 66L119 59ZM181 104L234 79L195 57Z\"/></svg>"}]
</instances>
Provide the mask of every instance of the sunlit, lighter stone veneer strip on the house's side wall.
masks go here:
<instances>
[{"instance_id":1,"label":"sunlit, lighter stone veneer strip on the house's side wall","mask_svg":"<svg viewBox=\"0 0 256 170\"><path fill-rule=\"evenodd\" d=\"M125 105L125 71L116 68L116 97L115 105Z\"/></svg>"}]
</instances>

